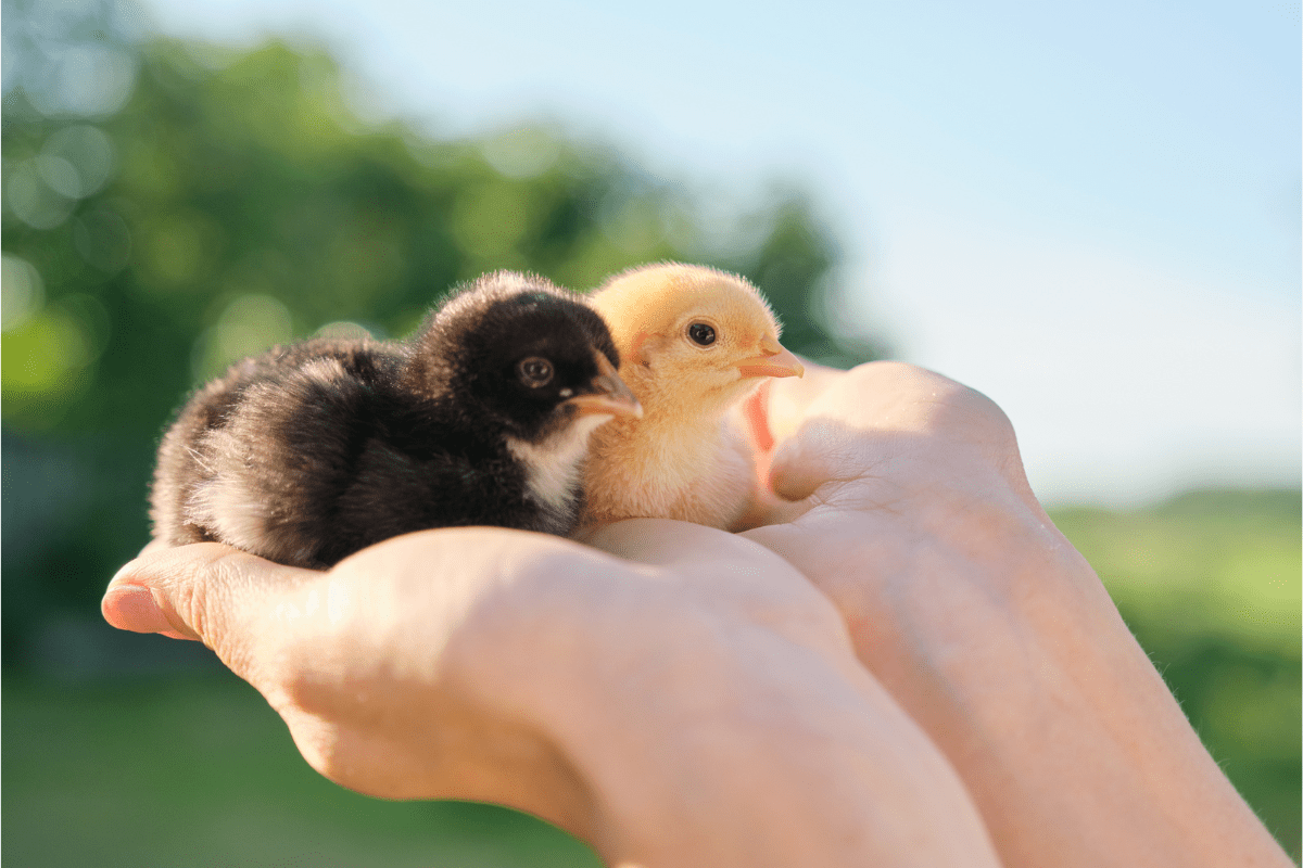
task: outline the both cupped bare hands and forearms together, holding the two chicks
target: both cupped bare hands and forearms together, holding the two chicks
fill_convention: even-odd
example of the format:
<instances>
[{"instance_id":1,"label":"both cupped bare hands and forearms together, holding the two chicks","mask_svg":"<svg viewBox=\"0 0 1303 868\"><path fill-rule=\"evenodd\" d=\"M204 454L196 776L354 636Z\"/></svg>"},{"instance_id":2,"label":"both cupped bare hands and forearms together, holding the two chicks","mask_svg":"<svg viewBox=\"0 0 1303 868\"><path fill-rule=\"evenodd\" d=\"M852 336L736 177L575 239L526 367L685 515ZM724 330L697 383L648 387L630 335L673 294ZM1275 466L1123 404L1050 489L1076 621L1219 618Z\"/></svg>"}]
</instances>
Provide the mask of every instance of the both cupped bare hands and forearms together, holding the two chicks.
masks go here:
<instances>
[{"instance_id":1,"label":"both cupped bare hands and forearms together, holding the two chicks","mask_svg":"<svg viewBox=\"0 0 1303 868\"><path fill-rule=\"evenodd\" d=\"M509 804L610 864L1290 864L990 401L877 363L749 416L783 497L741 535L430 531L324 574L186 547L104 613L202 638L345 786Z\"/></svg>"}]
</instances>

